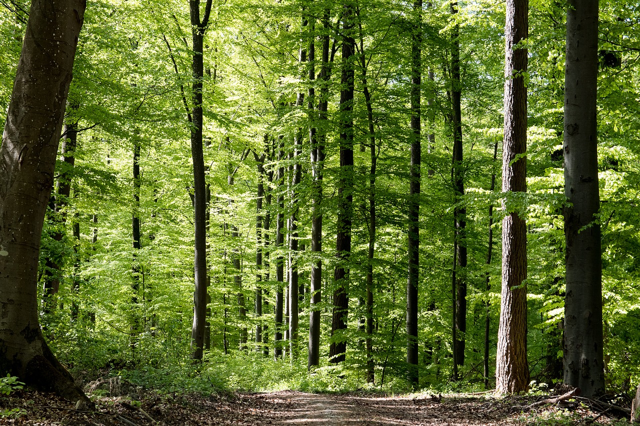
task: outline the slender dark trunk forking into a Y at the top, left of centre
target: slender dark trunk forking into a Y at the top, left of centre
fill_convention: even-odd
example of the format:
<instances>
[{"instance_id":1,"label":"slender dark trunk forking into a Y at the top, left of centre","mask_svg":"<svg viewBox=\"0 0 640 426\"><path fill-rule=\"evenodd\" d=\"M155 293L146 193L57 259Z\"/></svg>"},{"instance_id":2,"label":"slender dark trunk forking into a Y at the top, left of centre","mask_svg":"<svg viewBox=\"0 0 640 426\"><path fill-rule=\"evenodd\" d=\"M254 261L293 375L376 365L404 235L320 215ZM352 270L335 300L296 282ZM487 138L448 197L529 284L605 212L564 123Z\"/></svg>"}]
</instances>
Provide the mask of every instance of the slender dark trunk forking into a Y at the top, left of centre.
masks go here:
<instances>
[{"instance_id":1,"label":"slender dark trunk forking into a Y at the top, left of centre","mask_svg":"<svg viewBox=\"0 0 640 426\"><path fill-rule=\"evenodd\" d=\"M204 33L209 25L211 2L207 0L204 17L200 20L200 0L189 0L191 16L191 38L193 56L191 57L191 158L193 159L193 225L194 232L194 280L193 326L191 327L191 358L202 360L204 334L207 323L207 198L204 168L204 149L202 143L202 77L204 76L203 42Z\"/></svg>"}]
</instances>

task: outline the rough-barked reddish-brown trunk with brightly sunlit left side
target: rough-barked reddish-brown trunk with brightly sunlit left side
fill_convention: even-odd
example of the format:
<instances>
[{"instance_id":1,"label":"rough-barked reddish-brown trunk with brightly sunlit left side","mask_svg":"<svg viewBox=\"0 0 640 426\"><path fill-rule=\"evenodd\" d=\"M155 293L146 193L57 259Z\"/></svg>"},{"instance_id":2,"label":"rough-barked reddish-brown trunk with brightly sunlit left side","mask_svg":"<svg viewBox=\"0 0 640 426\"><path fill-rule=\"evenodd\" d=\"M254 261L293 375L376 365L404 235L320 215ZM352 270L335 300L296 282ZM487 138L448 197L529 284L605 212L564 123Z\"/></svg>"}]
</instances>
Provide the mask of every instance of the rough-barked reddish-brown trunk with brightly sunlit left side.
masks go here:
<instances>
[{"instance_id":1,"label":"rough-barked reddish-brown trunk with brightly sunlit left side","mask_svg":"<svg viewBox=\"0 0 640 426\"><path fill-rule=\"evenodd\" d=\"M502 294L495 368L496 389L529 388L527 368L527 225L511 193L527 191L527 49L518 45L529 31L527 0L507 0L504 58L504 144L502 148Z\"/></svg>"}]
</instances>

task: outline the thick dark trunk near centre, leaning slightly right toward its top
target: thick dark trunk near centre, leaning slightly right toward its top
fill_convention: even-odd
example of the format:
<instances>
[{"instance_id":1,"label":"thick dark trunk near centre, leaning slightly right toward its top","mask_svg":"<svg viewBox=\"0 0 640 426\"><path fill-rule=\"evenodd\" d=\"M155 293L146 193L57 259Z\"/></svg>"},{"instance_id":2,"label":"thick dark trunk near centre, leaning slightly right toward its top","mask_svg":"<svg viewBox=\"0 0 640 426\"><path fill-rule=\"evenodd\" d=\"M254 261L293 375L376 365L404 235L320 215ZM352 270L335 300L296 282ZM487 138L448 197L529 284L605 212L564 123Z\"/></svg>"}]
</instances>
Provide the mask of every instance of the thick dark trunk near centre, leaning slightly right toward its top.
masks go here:
<instances>
[{"instance_id":1,"label":"thick dark trunk near centre, leaning slightly right toward its top","mask_svg":"<svg viewBox=\"0 0 640 426\"><path fill-rule=\"evenodd\" d=\"M342 333L347 328L349 296L347 294L349 268L346 263L351 255L351 219L353 216L353 4L344 4L342 24L342 75L340 77L340 172L338 183L338 214L336 217L336 256L333 292L332 343L330 362L344 361L347 348Z\"/></svg>"}]
</instances>

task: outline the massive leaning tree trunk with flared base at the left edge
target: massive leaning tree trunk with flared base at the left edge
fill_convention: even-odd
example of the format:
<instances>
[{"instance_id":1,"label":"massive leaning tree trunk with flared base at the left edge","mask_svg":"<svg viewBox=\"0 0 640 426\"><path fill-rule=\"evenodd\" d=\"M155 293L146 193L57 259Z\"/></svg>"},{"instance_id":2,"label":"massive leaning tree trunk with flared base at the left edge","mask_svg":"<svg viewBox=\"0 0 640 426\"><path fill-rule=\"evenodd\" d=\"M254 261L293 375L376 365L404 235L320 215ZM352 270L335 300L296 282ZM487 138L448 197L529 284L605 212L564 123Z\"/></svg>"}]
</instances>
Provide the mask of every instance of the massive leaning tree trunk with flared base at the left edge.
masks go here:
<instances>
[{"instance_id":1,"label":"massive leaning tree trunk with flared base at the left edge","mask_svg":"<svg viewBox=\"0 0 640 426\"><path fill-rule=\"evenodd\" d=\"M40 236L86 3L33 0L0 146L1 370L91 405L38 322ZM55 52L55 54L52 54Z\"/></svg>"}]
</instances>

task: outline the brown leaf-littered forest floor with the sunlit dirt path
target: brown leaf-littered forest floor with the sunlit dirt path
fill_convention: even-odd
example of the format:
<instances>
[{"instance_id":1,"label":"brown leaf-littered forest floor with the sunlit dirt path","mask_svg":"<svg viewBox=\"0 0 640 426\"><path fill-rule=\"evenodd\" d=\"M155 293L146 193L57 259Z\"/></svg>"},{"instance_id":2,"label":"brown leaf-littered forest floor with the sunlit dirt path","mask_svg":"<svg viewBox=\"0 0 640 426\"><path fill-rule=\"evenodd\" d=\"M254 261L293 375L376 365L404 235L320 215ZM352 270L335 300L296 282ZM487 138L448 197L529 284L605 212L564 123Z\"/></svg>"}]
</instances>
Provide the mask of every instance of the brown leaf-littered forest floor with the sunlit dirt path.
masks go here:
<instances>
[{"instance_id":1,"label":"brown leaf-littered forest floor with the sunlit dirt path","mask_svg":"<svg viewBox=\"0 0 640 426\"><path fill-rule=\"evenodd\" d=\"M571 413L556 406L523 408L536 397L496 398L490 393L383 397L371 394L312 394L299 391L227 395L158 395L93 397L95 411L47 393L15 391L0 397L0 411L20 410L0 418L16 425L607 425L615 422L584 406ZM526 411L526 410L525 410Z\"/></svg>"}]
</instances>

